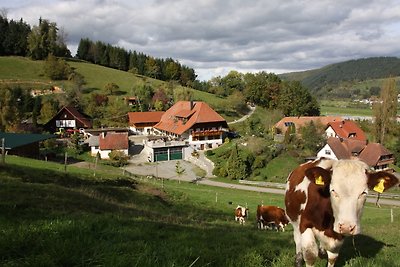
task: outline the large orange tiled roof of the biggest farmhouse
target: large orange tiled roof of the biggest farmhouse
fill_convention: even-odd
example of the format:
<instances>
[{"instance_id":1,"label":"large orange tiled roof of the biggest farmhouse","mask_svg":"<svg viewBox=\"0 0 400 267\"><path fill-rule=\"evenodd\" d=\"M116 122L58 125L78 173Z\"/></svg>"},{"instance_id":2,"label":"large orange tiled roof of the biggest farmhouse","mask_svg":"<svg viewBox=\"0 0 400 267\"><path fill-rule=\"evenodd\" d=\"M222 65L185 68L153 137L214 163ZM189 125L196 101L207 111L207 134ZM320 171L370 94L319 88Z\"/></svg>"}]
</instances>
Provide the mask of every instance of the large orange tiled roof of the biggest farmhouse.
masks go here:
<instances>
[{"instance_id":1,"label":"large orange tiled roof of the biggest farmhouse","mask_svg":"<svg viewBox=\"0 0 400 267\"><path fill-rule=\"evenodd\" d=\"M165 112L154 128L181 135L195 124L210 122L227 125L226 120L206 103L179 101Z\"/></svg>"}]
</instances>

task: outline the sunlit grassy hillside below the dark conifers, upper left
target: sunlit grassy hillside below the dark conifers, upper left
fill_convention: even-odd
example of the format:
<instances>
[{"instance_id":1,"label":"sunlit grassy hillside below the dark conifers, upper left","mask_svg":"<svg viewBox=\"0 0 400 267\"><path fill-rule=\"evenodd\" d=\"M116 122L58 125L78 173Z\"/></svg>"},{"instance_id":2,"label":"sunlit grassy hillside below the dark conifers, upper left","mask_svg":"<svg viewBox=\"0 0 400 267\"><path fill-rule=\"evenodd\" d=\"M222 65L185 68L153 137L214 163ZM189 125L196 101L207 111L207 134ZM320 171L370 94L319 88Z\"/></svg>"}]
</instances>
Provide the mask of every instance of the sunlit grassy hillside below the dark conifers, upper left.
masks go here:
<instances>
[{"instance_id":1,"label":"sunlit grassy hillside below the dark conifers, upper left","mask_svg":"<svg viewBox=\"0 0 400 267\"><path fill-rule=\"evenodd\" d=\"M160 80L96 64L78 61L68 61L68 64L85 77L84 93L106 93L104 88L108 83L115 83L119 86L118 95L131 95L133 88L143 84L149 84L154 89L167 86L166 82ZM50 85L61 88L71 86L69 81L50 81L43 75L42 69L43 61L40 60L32 61L23 57L0 57L0 82L18 83L28 88L38 89L47 89ZM189 90L193 92L194 100L204 101L215 109L223 107L226 103L226 99L213 94L194 89ZM226 117L226 119L237 118Z\"/></svg>"}]
</instances>

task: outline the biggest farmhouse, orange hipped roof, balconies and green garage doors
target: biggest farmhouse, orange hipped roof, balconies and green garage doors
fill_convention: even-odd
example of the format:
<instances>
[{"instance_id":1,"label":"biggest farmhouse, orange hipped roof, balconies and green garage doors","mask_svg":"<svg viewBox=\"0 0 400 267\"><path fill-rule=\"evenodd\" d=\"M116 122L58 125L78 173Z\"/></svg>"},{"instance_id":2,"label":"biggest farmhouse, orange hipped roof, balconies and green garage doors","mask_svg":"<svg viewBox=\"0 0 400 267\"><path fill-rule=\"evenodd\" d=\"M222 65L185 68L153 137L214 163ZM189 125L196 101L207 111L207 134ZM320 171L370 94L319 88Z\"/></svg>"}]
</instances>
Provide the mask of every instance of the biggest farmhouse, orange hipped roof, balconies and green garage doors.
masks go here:
<instances>
[{"instance_id":1,"label":"biggest farmhouse, orange hipped roof, balconies and green garage doors","mask_svg":"<svg viewBox=\"0 0 400 267\"><path fill-rule=\"evenodd\" d=\"M144 131L152 135L144 141L144 150L149 161L183 159L195 150L222 145L228 130L226 120L206 103L179 101L152 130Z\"/></svg>"}]
</instances>

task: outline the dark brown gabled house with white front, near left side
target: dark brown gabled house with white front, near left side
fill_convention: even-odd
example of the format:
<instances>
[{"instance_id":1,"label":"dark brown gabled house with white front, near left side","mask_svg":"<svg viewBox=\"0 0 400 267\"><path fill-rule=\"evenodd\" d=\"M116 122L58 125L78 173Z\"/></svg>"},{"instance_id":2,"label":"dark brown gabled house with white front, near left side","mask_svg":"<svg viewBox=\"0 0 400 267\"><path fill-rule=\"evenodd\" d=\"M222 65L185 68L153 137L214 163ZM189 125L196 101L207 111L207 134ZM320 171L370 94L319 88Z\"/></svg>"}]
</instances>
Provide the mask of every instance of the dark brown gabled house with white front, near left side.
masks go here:
<instances>
[{"instance_id":1,"label":"dark brown gabled house with white front, near left side","mask_svg":"<svg viewBox=\"0 0 400 267\"><path fill-rule=\"evenodd\" d=\"M60 130L60 128L64 130L87 129L92 128L92 122L76 108L64 106L44 125L44 128L51 133Z\"/></svg>"}]
</instances>

